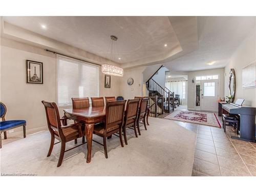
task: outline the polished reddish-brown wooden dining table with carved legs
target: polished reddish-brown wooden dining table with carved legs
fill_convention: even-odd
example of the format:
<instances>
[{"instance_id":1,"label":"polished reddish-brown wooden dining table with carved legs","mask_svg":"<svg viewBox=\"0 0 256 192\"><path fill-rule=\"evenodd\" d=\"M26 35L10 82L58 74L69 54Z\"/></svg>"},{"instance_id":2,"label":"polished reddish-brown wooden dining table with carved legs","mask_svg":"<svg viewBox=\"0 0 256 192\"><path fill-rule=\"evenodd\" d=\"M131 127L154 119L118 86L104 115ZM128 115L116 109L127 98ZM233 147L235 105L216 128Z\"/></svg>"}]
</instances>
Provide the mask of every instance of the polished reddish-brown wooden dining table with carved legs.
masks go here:
<instances>
[{"instance_id":1,"label":"polished reddish-brown wooden dining table with carved legs","mask_svg":"<svg viewBox=\"0 0 256 192\"><path fill-rule=\"evenodd\" d=\"M93 141L93 129L95 123L104 122L106 118L106 106L90 106L89 108L81 109L65 109L64 115L68 119L83 122L86 125L86 140L87 140L87 163L91 162L92 154L92 141ZM148 124L148 116L150 110L147 109L146 122Z\"/></svg>"}]
</instances>

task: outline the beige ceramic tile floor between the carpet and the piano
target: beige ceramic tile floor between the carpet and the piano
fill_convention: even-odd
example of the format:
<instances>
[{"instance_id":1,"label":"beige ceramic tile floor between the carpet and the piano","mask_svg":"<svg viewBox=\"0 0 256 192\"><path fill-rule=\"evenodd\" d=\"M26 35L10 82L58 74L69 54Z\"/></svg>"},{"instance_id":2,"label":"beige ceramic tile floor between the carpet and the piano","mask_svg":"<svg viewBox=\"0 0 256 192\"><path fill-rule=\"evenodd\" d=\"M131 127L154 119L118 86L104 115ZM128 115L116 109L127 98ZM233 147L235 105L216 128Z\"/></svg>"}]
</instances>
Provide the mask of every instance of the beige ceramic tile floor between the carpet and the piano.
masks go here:
<instances>
[{"instance_id":1,"label":"beige ceramic tile floor between the carpet and the piano","mask_svg":"<svg viewBox=\"0 0 256 192\"><path fill-rule=\"evenodd\" d=\"M192 176L256 176L256 143L231 139L236 132L182 121L177 124L197 133Z\"/></svg>"}]
</instances>

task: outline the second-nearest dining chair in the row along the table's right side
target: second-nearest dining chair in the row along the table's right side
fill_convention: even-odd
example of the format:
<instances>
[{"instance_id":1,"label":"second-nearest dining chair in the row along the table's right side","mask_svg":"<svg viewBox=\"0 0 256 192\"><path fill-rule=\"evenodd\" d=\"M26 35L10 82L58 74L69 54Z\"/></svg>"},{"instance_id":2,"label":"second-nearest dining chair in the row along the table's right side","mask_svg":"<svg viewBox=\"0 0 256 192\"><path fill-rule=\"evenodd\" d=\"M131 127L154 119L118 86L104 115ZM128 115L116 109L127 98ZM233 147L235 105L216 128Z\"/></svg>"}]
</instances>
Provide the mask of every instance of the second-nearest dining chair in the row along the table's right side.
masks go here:
<instances>
[{"instance_id":1,"label":"second-nearest dining chair in the row along the table's right side","mask_svg":"<svg viewBox=\"0 0 256 192\"><path fill-rule=\"evenodd\" d=\"M137 131L136 131L136 122L137 122L138 112L139 112L139 103L140 103L140 99L127 100L126 111L124 114L124 123L123 123L123 136L124 136L124 142L126 145L127 145L126 127L130 128L130 126L133 126L135 136L138 137Z\"/></svg>"}]
</instances>

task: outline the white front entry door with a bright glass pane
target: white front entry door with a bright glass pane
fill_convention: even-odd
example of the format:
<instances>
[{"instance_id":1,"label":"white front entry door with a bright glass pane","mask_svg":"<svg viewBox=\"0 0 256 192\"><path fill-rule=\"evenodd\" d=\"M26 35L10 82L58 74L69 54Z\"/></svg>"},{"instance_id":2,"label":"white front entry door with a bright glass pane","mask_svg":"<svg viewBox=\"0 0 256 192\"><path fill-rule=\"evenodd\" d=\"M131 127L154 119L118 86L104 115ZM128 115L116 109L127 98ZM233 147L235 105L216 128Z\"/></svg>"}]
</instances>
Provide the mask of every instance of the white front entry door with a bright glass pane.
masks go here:
<instances>
[{"instance_id":1,"label":"white front entry door with a bright glass pane","mask_svg":"<svg viewBox=\"0 0 256 192\"><path fill-rule=\"evenodd\" d=\"M201 110L218 111L219 80L201 80Z\"/></svg>"}]
</instances>

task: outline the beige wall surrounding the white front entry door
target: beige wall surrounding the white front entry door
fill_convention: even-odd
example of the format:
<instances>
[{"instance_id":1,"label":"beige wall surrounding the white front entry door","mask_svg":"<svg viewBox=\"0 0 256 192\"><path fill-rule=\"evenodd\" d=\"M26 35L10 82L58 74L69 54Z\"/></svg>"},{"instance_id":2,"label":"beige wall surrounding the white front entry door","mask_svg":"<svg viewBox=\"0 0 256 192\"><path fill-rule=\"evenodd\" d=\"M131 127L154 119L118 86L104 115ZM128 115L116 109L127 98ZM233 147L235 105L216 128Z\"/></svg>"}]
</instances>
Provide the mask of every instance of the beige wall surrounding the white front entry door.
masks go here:
<instances>
[{"instance_id":1,"label":"beige wall surrounding the white front entry door","mask_svg":"<svg viewBox=\"0 0 256 192\"><path fill-rule=\"evenodd\" d=\"M192 80L196 80L196 76L203 75L219 75L219 98L224 97L224 68L220 69L211 69L211 70L201 70L201 71L191 71L188 72L187 79L187 109L194 110L195 109L195 82Z\"/></svg>"}]
</instances>

